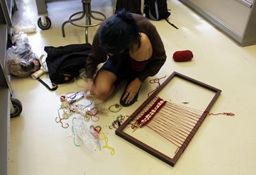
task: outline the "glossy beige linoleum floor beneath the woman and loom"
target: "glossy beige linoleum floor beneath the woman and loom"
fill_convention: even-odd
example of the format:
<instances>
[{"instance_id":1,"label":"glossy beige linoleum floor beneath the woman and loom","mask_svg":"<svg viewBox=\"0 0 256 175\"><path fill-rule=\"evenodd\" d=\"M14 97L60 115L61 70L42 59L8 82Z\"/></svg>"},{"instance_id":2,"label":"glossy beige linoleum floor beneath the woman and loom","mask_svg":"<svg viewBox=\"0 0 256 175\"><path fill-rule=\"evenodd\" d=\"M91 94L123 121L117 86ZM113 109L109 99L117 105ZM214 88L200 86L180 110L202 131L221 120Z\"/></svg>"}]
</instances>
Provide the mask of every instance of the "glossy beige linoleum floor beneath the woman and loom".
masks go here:
<instances>
[{"instance_id":1,"label":"glossy beige linoleum floor beneath the woman and loom","mask_svg":"<svg viewBox=\"0 0 256 175\"><path fill-rule=\"evenodd\" d=\"M19 11L13 15L14 24L22 18L37 22L35 1L24 0L17 4ZM36 34L28 36L35 53L38 56L45 54L44 46L84 43L83 28L67 24L66 38L61 35L62 22L81 10L81 2L57 1L47 5L51 29L42 31L37 27ZM92 8L110 16L111 6L110 0L93 0ZM164 20L153 21L167 54L166 63L155 77L168 76L177 71L219 88L222 93L211 112L233 112L235 116L207 116L177 164L172 167L108 129L107 126L117 114L102 116L98 123L94 123L103 127L109 145L115 148L115 155L111 156L108 149L91 153L84 147L74 146L73 138L66 137L71 132L70 127L61 128L55 118L60 107L60 95L82 90L83 80L78 79L71 84L60 85L56 91L49 91L38 81L13 78L11 84L15 97L22 102L23 111L18 118L11 119L10 175L256 174L256 45L238 46L179 1L169 0L168 6L172 13L169 20L179 29L174 29ZM90 42L96 29L89 29ZM185 49L193 52L193 61L174 62L172 54ZM118 114L130 115L146 99L148 91L156 86L149 84L149 79L141 88L139 101ZM123 88L116 90L116 95L106 102L107 106L118 103ZM189 90L178 98L180 102L189 99L193 93ZM199 94L193 101L201 103L201 98Z\"/></svg>"}]
</instances>

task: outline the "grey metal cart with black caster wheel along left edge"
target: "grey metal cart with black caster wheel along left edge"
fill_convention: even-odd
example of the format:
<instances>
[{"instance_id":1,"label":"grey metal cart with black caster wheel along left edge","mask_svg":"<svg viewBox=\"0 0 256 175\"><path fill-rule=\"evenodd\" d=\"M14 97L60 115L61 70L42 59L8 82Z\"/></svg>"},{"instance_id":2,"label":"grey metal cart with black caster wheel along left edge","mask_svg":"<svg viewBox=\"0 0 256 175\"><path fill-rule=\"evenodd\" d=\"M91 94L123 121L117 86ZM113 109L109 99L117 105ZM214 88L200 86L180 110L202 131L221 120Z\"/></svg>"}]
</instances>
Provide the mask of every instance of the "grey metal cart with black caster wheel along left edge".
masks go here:
<instances>
[{"instance_id":1,"label":"grey metal cart with black caster wheel along left edge","mask_svg":"<svg viewBox=\"0 0 256 175\"><path fill-rule=\"evenodd\" d=\"M12 8L13 0L0 0L0 171L3 175L8 174L10 116L18 116L22 111L21 102L14 98L5 64Z\"/></svg>"}]
</instances>

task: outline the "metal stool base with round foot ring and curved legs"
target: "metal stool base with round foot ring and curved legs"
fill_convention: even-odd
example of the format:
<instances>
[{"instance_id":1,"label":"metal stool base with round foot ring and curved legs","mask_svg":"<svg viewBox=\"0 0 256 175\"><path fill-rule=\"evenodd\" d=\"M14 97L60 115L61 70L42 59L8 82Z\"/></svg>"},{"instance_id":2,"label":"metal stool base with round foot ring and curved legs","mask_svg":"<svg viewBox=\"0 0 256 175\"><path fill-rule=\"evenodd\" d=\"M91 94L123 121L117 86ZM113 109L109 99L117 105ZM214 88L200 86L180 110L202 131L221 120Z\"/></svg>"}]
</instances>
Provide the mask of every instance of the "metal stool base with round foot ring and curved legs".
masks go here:
<instances>
[{"instance_id":1,"label":"metal stool base with round foot ring and curved legs","mask_svg":"<svg viewBox=\"0 0 256 175\"><path fill-rule=\"evenodd\" d=\"M85 27L85 42L88 43L88 28L93 27L93 26L98 26L101 23L101 22L99 22L99 23L92 24L91 18L95 19L95 20L103 21L106 19L106 16L101 12L91 10L91 0L82 0L82 4L83 4L83 11L77 12L77 13L74 13L73 15L71 15L67 21L62 23L61 30L62 30L62 36L65 37L66 35L65 35L64 27L65 27L66 23L69 22L70 24L77 26L77 27ZM72 19L75 15L77 15L79 13L82 13L82 16ZM97 18L97 17L93 16L92 13L98 13L98 14L102 15L103 18ZM78 24L74 23L74 21L83 19L84 16L85 16L85 25L78 25Z\"/></svg>"}]
</instances>

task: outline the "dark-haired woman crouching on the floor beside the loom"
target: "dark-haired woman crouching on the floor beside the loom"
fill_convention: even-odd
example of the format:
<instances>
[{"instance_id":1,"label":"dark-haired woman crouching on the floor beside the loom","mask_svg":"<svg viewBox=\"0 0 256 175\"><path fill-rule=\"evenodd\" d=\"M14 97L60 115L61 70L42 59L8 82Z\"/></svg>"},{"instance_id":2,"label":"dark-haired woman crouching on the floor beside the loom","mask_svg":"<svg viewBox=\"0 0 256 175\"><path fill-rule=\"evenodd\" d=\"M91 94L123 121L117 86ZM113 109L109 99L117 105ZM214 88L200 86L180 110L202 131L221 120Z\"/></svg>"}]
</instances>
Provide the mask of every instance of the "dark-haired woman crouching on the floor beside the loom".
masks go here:
<instances>
[{"instance_id":1,"label":"dark-haired woman crouching on the floor beside the loom","mask_svg":"<svg viewBox=\"0 0 256 175\"><path fill-rule=\"evenodd\" d=\"M86 61L85 90L105 101L126 79L120 103L130 106L137 101L142 82L155 76L165 60L164 45L155 26L142 15L119 11L103 21L94 36ZM100 63L104 64L93 80Z\"/></svg>"}]
</instances>

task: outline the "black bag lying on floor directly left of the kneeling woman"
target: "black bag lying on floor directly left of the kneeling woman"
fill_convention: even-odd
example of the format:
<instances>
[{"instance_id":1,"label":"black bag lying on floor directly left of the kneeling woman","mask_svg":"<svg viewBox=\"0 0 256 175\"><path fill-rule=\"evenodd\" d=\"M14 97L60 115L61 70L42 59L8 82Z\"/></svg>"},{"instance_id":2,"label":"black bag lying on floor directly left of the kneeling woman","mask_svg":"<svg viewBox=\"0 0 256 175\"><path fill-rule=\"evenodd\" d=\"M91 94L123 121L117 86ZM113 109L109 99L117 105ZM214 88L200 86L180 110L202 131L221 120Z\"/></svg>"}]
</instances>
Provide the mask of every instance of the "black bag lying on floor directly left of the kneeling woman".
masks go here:
<instances>
[{"instance_id":1,"label":"black bag lying on floor directly left of the kneeling woman","mask_svg":"<svg viewBox=\"0 0 256 175\"><path fill-rule=\"evenodd\" d=\"M44 47L47 53L46 64L53 84L63 84L74 80L79 70L85 68L86 57L91 52L91 44Z\"/></svg>"}]
</instances>

